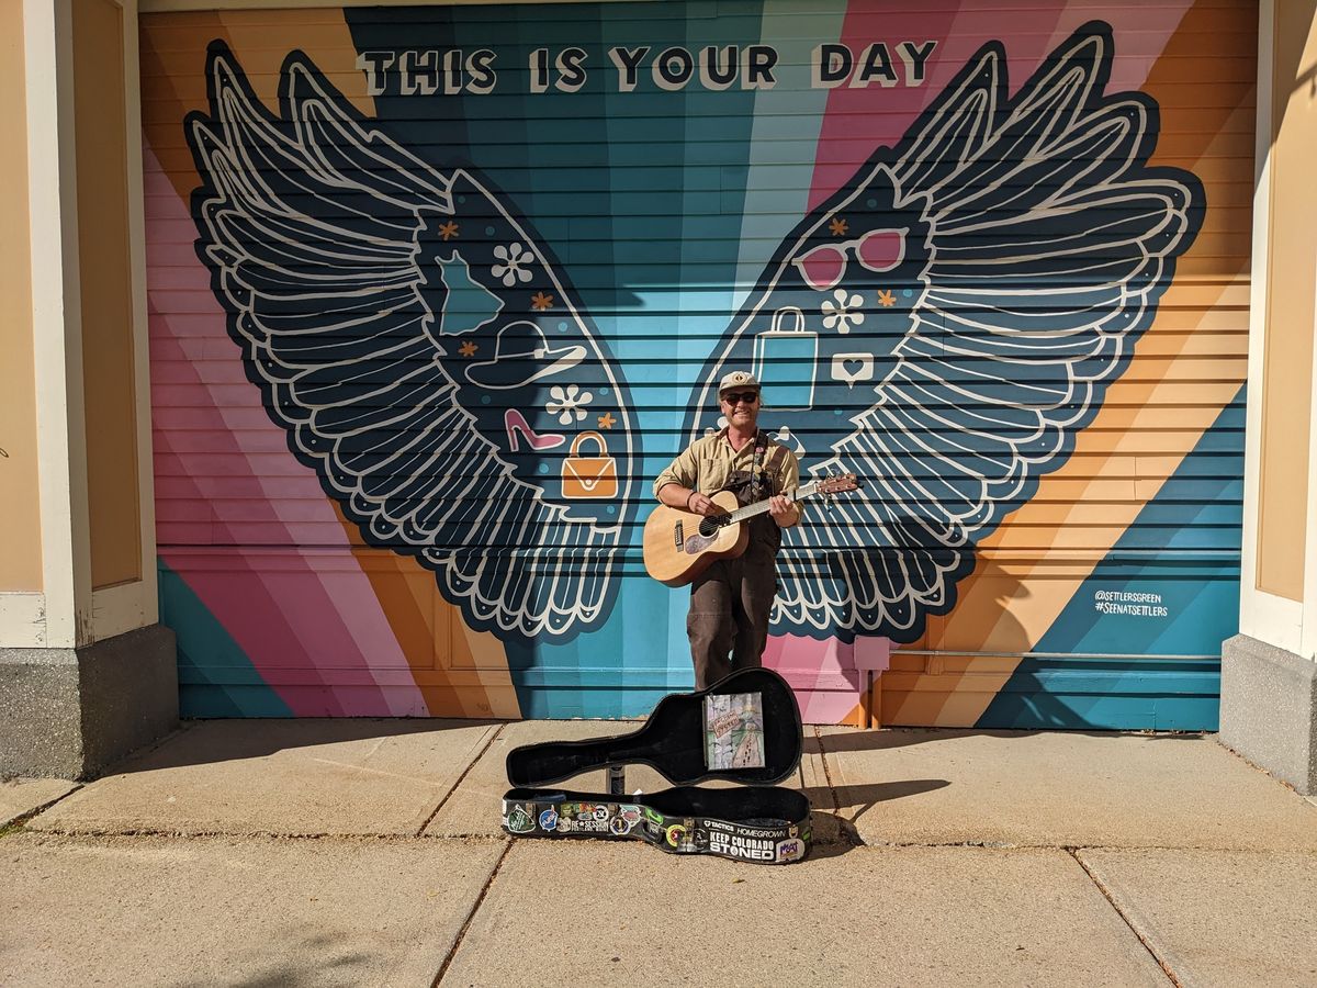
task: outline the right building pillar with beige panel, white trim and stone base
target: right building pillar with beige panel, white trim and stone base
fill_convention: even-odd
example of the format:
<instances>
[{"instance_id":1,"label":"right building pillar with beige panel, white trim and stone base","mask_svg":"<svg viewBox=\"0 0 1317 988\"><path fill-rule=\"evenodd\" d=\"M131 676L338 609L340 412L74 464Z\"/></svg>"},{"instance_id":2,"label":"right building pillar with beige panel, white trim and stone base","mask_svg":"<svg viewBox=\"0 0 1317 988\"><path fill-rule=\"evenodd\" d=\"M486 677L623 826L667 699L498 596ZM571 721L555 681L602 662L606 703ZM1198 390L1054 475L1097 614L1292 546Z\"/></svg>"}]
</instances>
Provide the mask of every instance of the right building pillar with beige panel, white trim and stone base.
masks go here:
<instances>
[{"instance_id":1,"label":"right building pillar with beige panel, white trim and stone base","mask_svg":"<svg viewBox=\"0 0 1317 988\"><path fill-rule=\"evenodd\" d=\"M1263 0L1258 33L1239 635L1221 742L1317 793L1317 0Z\"/></svg>"}]
</instances>

